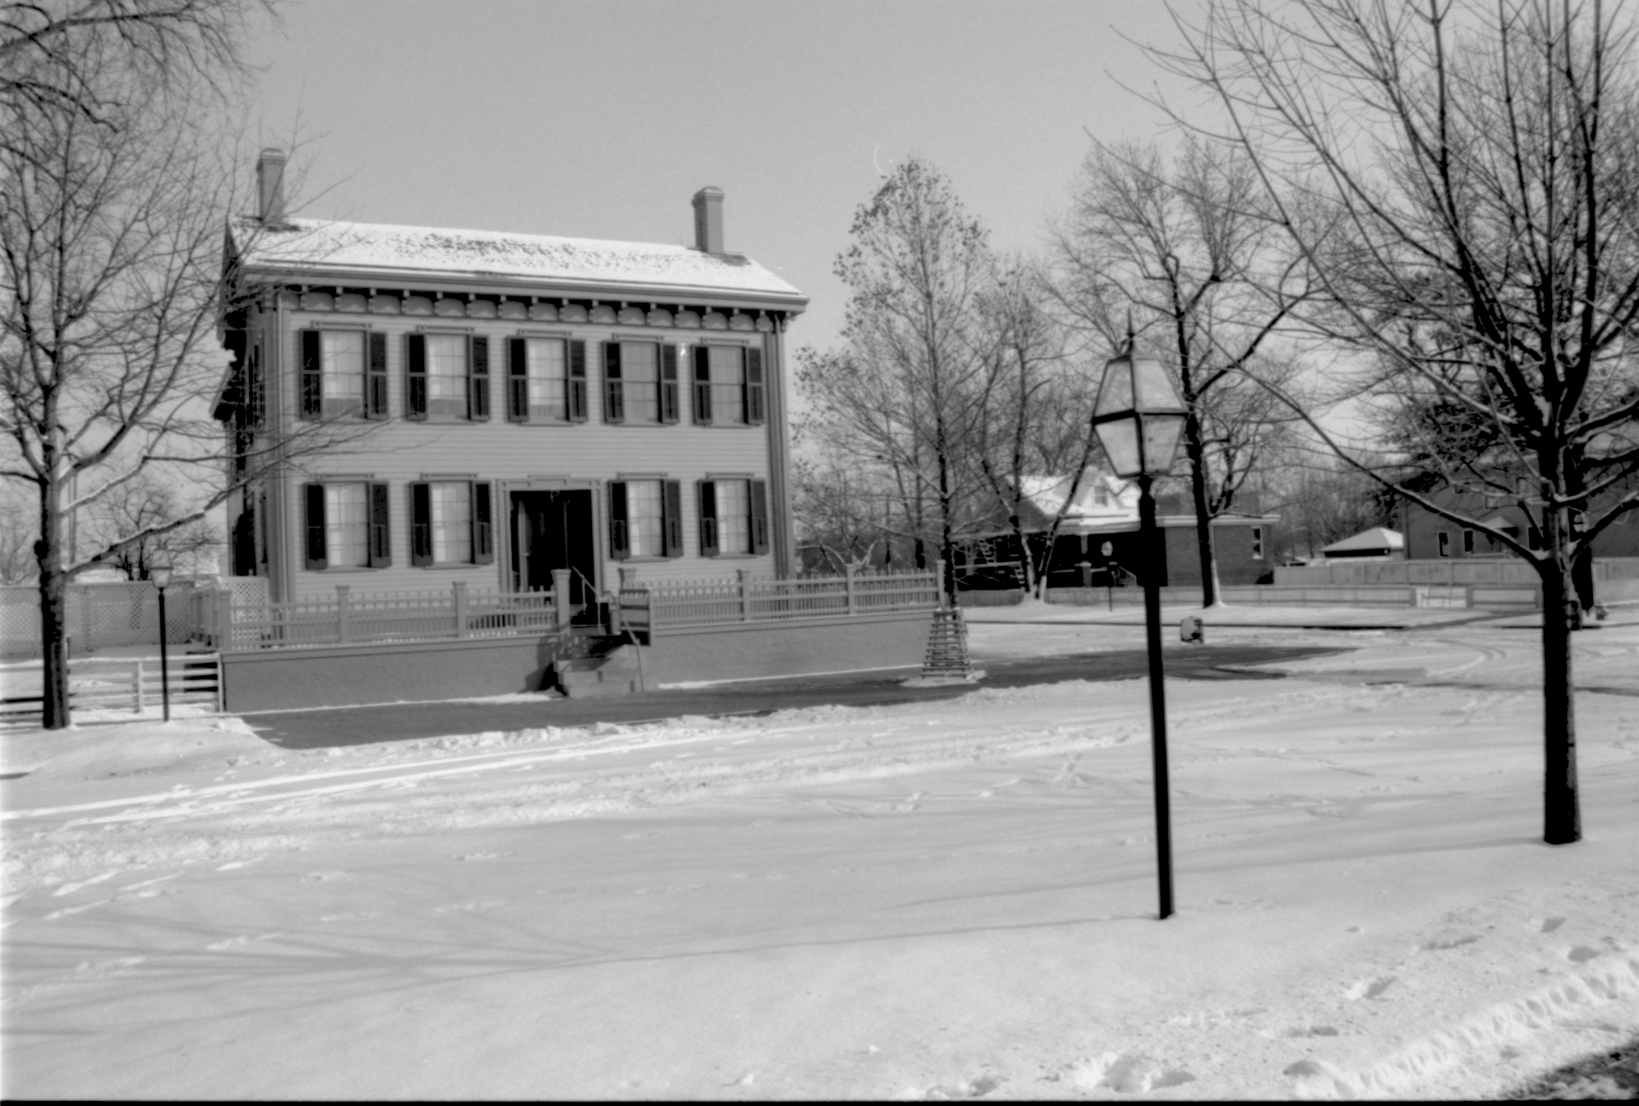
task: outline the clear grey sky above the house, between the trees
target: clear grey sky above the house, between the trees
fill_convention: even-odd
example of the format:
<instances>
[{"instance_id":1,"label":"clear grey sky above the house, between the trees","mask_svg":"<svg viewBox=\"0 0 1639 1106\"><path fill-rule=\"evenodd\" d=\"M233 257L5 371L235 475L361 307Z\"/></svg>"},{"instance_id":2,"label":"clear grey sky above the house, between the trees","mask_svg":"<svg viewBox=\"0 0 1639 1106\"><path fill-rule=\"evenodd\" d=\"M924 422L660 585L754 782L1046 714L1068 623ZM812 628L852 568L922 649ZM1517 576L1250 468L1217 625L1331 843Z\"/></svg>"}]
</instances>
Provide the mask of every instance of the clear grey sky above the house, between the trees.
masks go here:
<instances>
[{"instance_id":1,"label":"clear grey sky above the house, between the trees","mask_svg":"<svg viewBox=\"0 0 1639 1106\"><path fill-rule=\"evenodd\" d=\"M1088 133L1167 138L1121 34L1175 36L1152 0L295 0L246 138L297 136L310 218L692 244L718 185L726 246L811 300L792 346L829 346L880 169L931 161L1033 249Z\"/></svg>"}]
</instances>

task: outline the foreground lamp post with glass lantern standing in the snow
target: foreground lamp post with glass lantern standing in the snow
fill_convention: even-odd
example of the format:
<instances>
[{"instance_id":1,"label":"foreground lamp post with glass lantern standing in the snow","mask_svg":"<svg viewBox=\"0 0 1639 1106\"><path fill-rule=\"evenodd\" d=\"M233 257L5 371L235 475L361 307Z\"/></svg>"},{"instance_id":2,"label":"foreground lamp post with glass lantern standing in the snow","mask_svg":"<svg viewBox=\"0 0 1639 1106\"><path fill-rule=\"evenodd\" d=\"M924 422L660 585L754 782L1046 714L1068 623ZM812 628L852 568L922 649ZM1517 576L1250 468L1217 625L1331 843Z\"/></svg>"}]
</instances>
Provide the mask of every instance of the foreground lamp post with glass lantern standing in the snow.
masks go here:
<instances>
[{"instance_id":1,"label":"foreground lamp post with glass lantern standing in the snow","mask_svg":"<svg viewBox=\"0 0 1639 1106\"><path fill-rule=\"evenodd\" d=\"M1165 551L1155 528L1151 483L1172 470L1188 410L1172 374L1157 357L1139 356L1133 334L1105 365L1093 403L1093 429L1115 475L1137 480L1137 531L1144 573L1144 631L1149 639L1149 726L1155 770L1155 855L1160 882L1160 916L1172 914L1172 813L1167 786L1167 693L1160 665L1159 565Z\"/></svg>"}]
</instances>

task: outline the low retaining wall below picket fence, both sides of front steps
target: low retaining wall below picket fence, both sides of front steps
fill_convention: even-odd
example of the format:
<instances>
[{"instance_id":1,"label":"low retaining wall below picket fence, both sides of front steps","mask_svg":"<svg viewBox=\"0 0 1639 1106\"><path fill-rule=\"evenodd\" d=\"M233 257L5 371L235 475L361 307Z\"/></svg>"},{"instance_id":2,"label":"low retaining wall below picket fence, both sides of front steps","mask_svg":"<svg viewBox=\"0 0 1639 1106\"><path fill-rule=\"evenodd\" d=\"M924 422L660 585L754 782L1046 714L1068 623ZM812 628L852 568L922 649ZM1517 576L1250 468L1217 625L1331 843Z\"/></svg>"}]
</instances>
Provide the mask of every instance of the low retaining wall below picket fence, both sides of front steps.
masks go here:
<instances>
[{"instance_id":1,"label":"low retaining wall below picket fence, both sides of front steps","mask_svg":"<svg viewBox=\"0 0 1639 1106\"><path fill-rule=\"evenodd\" d=\"M928 611L749 623L654 634L644 683L744 680L919 665ZM367 706L538 691L557 636L479 637L221 654L225 709Z\"/></svg>"}]
</instances>

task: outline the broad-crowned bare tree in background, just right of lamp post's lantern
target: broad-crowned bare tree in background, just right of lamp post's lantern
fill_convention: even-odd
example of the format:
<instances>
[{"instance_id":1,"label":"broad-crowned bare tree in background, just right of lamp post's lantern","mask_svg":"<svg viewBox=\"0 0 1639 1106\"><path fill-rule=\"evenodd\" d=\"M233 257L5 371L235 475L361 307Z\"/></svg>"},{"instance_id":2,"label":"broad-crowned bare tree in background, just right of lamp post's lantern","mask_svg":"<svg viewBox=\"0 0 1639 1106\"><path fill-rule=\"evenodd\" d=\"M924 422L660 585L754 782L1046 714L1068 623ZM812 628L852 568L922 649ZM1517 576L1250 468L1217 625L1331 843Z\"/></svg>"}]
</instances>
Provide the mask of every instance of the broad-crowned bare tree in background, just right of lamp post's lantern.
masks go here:
<instances>
[{"instance_id":1,"label":"broad-crowned bare tree in background, just right of lamp post's lantern","mask_svg":"<svg viewBox=\"0 0 1639 1106\"><path fill-rule=\"evenodd\" d=\"M1187 139L1169 164L1152 144L1095 143L1054 228L1059 301L1118 349L1134 323L1177 370L1201 603L1218 603L1211 519L1251 472L1270 410L1247 374L1292 303L1292 251L1277 256L1259 177L1233 149Z\"/></svg>"}]
</instances>

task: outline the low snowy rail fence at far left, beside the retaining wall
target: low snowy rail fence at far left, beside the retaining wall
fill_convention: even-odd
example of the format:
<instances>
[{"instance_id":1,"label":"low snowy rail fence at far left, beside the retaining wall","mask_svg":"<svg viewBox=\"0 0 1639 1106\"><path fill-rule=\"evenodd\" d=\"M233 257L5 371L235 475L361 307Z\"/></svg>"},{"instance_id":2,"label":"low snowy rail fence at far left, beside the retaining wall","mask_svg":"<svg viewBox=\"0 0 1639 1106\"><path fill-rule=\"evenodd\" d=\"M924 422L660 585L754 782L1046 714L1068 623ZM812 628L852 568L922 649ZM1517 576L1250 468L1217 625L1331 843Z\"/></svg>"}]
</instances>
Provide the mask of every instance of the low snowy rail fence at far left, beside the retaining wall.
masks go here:
<instances>
[{"instance_id":1,"label":"low snowy rail fence at far left, beside the retaining wall","mask_svg":"<svg viewBox=\"0 0 1639 1106\"><path fill-rule=\"evenodd\" d=\"M170 703L203 703L221 709L221 659L216 654L172 654L167 659ZM41 714L39 665L5 665L7 688L0 723L33 723ZM69 709L144 713L159 706L166 678L157 657L87 657L69 662Z\"/></svg>"}]
</instances>

